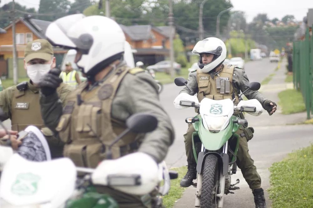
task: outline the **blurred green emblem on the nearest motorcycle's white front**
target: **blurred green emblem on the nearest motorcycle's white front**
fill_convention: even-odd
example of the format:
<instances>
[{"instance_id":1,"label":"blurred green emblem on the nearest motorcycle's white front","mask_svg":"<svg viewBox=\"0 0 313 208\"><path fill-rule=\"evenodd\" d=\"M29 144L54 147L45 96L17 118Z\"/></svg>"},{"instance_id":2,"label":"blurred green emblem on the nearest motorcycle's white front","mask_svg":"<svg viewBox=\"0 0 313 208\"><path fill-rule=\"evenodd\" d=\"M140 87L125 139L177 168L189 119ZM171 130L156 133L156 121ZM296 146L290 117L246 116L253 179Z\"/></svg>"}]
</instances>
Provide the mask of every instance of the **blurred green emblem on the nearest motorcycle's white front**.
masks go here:
<instances>
[{"instance_id":1,"label":"blurred green emblem on the nearest motorcycle's white front","mask_svg":"<svg viewBox=\"0 0 313 208\"><path fill-rule=\"evenodd\" d=\"M38 190L40 176L33 173L20 173L11 187L11 192L18 196L34 195Z\"/></svg>"}]
</instances>

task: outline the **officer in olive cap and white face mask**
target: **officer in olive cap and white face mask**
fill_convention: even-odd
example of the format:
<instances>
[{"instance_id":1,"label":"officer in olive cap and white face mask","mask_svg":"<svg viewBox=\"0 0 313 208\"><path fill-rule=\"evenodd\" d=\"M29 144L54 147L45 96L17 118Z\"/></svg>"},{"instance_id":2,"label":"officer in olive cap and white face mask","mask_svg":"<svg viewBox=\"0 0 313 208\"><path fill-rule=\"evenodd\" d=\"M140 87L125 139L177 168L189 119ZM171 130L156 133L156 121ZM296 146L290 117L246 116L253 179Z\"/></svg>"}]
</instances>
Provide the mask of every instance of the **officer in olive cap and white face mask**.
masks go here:
<instances>
[{"instance_id":1,"label":"officer in olive cap and white face mask","mask_svg":"<svg viewBox=\"0 0 313 208\"><path fill-rule=\"evenodd\" d=\"M17 86L8 87L0 92L0 107L3 109L2 120L11 119L13 131L22 131L33 125L41 129L48 141L53 158L62 157L63 143L53 136L53 132L44 126L39 105L39 79L55 67L55 57L51 44L44 39L28 42L25 48L24 68L30 78ZM56 92L60 97L60 105L65 104L65 98L74 90L72 86L62 83ZM17 150L21 141L12 137L12 147ZM5 144L0 140L0 144Z\"/></svg>"}]
</instances>

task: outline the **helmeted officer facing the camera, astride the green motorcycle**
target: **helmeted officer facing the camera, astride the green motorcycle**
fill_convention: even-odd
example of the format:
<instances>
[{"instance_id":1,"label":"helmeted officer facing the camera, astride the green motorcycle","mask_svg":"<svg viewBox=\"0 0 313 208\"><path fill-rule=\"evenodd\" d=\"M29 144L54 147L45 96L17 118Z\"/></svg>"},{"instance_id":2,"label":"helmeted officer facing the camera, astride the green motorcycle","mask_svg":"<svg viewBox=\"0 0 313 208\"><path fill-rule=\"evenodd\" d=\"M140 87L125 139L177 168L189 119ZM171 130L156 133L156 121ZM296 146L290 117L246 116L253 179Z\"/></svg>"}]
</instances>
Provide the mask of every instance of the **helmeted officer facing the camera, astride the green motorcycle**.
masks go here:
<instances>
[{"instance_id":1,"label":"helmeted officer facing the camera, astride the green motorcycle","mask_svg":"<svg viewBox=\"0 0 313 208\"><path fill-rule=\"evenodd\" d=\"M238 104L238 95L240 91L244 92L247 89L249 79L243 69L223 64L226 58L224 42L215 37L206 38L195 45L192 53L200 56L198 61L200 69L189 73L187 86L192 89L192 92L184 87L180 93L185 92L189 95L198 93L199 102L204 97L213 100L236 98L236 104ZM221 80L225 80L225 82L221 84ZM244 95L248 99L257 99L269 115L276 111L276 103L267 100L258 91L248 90ZM192 181L197 177L197 164L192 151L192 133L194 131L193 126L189 124L187 133L184 135L188 170L180 182L182 187L191 186ZM249 128L241 128L236 134L241 136L237 153L237 166L241 169L245 180L252 189L256 208L264 208L266 204L264 191L261 188L261 178L248 149L248 141L252 138L253 132Z\"/></svg>"}]
</instances>

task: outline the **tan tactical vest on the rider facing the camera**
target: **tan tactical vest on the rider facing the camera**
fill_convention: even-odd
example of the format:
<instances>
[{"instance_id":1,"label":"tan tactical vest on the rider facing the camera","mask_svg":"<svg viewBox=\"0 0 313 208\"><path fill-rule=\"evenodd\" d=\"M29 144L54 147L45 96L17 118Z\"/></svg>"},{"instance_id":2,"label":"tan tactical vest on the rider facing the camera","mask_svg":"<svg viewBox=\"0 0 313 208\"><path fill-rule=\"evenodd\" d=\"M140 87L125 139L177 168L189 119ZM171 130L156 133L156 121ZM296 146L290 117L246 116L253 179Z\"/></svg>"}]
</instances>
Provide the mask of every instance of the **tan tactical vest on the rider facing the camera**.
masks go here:
<instances>
[{"instance_id":1,"label":"tan tactical vest on the rider facing the camera","mask_svg":"<svg viewBox=\"0 0 313 208\"><path fill-rule=\"evenodd\" d=\"M202 101L204 97L213 100L223 100L236 98L239 102L238 94L233 88L233 70L234 66L224 64L223 70L218 75L211 76L209 73L203 73L197 70L198 82L198 100Z\"/></svg>"}]
</instances>

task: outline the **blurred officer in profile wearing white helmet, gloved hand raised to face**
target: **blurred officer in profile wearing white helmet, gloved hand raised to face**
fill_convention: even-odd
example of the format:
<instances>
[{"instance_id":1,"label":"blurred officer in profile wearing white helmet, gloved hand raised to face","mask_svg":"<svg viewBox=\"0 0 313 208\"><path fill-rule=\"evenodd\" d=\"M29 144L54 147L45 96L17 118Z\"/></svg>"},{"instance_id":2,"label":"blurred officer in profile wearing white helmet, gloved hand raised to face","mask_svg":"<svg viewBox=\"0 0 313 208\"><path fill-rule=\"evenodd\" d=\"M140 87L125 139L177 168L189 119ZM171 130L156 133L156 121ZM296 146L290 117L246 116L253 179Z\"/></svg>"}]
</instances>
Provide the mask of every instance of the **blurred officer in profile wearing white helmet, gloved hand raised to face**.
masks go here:
<instances>
[{"instance_id":1,"label":"blurred officer in profile wearing white helmet, gloved hand raised to face","mask_svg":"<svg viewBox=\"0 0 313 208\"><path fill-rule=\"evenodd\" d=\"M69 94L63 111L56 93L62 82L59 70L52 69L39 83L44 122L66 143L64 156L76 166L95 168L106 159L108 145L125 130L126 119L135 113L149 113L158 120L156 130L146 135L127 134L113 146L112 157L139 151L161 162L173 143L174 130L152 77L142 69L130 69L123 61L121 27L107 17L74 14L51 23L45 35L53 45L77 50L75 63L88 78ZM151 207L141 196L109 187L97 189L112 196L120 208Z\"/></svg>"}]
</instances>

